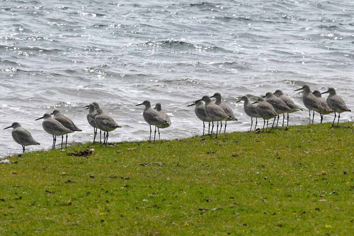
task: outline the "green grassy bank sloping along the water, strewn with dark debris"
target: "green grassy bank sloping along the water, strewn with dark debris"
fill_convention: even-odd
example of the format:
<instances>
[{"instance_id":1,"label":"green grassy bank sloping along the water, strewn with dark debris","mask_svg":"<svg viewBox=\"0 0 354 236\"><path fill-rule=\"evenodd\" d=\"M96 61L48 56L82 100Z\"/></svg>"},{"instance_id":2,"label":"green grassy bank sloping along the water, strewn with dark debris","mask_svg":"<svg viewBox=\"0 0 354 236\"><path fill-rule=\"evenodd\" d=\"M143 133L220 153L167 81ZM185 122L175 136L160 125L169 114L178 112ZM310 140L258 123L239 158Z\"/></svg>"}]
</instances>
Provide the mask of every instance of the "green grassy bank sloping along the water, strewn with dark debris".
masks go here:
<instances>
[{"instance_id":1,"label":"green grassy bank sloping along the water, strewn with dark debris","mask_svg":"<svg viewBox=\"0 0 354 236\"><path fill-rule=\"evenodd\" d=\"M330 126L11 156L0 235L351 235L354 128Z\"/></svg>"}]
</instances>

